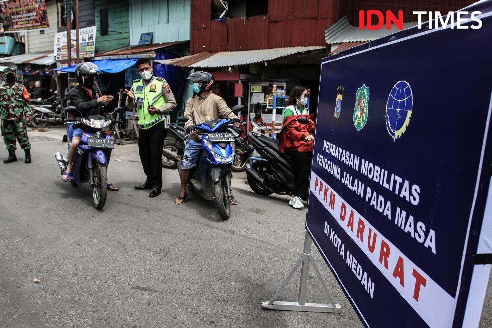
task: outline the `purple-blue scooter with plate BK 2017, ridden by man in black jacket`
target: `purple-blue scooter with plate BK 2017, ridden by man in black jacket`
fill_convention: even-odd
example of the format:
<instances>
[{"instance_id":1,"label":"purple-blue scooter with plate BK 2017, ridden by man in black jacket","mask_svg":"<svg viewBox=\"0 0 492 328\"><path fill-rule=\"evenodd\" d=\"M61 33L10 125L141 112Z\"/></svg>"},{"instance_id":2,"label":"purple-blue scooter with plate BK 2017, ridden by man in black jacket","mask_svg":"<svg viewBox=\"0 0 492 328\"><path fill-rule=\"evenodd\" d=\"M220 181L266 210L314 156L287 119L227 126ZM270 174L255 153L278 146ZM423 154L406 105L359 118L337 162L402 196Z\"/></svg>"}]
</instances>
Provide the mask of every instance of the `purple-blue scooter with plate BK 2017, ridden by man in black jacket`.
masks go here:
<instances>
[{"instance_id":1,"label":"purple-blue scooter with plate BK 2017, ridden by man in black jacket","mask_svg":"<svg viewBox=\"0 0 492 328\"><path fill-rule=\"evenodd\" d=\"M121 110L120 107L116 108L112 113L119 110ZM65 108L65 111L74 113L77 112L77 108L71 106ZM92 196L96 209L102 209L106 203L108 191L107 169L111 151L115 148L111 134L106 134L105 132L112 130L115 123L121 122L112 119L110 117L112 113L107 117L90 115L77 119L65 119L66 122L69 122L69 134L70 130L76 127L84 131L73 156L71 183L76 186L89 182L92 187ZM70 142L71 140L68 140L68 147L70 147ZM66 171L68 159L64 158L60 152L55 154L55 158L63 174Z\"/></svg>"}]
</instances>

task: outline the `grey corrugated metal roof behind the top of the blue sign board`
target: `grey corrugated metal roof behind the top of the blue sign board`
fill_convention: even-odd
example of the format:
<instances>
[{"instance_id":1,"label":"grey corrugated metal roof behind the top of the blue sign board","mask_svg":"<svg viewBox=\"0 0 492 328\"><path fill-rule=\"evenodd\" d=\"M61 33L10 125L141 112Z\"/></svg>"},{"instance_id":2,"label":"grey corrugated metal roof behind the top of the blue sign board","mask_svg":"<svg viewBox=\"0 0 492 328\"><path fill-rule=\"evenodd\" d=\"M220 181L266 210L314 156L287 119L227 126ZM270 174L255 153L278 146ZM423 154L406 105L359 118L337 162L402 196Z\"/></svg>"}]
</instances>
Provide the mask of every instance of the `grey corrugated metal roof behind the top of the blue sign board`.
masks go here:
<instances>
[{"instance_id":1,"label":"grey corrugated metal roof behind the top of the blue sign board","mask_svg":"<svg viewBox=\"0 0 492 328\"><path fill-rule=\"evenodd\" d=\"M403 29L408 29L417 24L417 22L403 23ZM343 16L325 31L325 41L328 44L368 42L399 31L395 26L392 26L390 30L386 30L386 28L380 30L361 30L358 26L350 25L347 16Z\"/></svg>"}]
</instances>

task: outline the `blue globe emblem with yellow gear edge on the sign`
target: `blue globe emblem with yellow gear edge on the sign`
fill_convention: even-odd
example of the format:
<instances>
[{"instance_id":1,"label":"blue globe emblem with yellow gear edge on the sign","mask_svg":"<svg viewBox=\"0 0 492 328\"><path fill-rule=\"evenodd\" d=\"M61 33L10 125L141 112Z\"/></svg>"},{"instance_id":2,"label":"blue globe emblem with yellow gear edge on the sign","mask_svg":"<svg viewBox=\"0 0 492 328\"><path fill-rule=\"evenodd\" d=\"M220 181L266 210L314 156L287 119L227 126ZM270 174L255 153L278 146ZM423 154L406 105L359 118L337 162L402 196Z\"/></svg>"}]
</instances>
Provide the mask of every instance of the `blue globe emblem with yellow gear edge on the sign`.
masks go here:
<instances>
[{"instance_id":1,"label":"blue globe emblem with yellow gear edge on the sign","mask_svg":"<svg viewBox=\"0 0 492 328\"><path fill-rule=\"evenodd\" d=\"M386 103L386 129L393 141L400 138L412 116L412 88L406 81L398 81L391 89Z\"/></svg>"}]
</instances>

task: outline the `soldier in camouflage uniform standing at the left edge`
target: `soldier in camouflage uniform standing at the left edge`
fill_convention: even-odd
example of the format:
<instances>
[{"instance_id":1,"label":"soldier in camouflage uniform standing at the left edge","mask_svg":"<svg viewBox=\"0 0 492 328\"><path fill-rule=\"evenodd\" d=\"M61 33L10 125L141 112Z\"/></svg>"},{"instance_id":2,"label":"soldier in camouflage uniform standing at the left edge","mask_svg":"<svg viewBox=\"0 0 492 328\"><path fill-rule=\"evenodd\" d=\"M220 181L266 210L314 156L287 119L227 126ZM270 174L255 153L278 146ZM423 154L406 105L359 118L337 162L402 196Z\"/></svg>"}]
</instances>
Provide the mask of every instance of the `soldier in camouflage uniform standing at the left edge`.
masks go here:
<instances>
[{"instance_id":1,"label":"soldier in camouflage uniform standing at the left edge","mask_svg":"<svg viewBox=\"0 0 492 328\"><path fill-rule=\"evenodd\" d=\"M17 161L15 156L16 139L24 149L24 163L31 163L31 144L26 131L26 117L31 121L29 93L22 84L15 82L15 72L7 67L3 70L5 82L0 84L1 135L7 146L8 158L3 163Z\"/></svg>"}]
</instances>

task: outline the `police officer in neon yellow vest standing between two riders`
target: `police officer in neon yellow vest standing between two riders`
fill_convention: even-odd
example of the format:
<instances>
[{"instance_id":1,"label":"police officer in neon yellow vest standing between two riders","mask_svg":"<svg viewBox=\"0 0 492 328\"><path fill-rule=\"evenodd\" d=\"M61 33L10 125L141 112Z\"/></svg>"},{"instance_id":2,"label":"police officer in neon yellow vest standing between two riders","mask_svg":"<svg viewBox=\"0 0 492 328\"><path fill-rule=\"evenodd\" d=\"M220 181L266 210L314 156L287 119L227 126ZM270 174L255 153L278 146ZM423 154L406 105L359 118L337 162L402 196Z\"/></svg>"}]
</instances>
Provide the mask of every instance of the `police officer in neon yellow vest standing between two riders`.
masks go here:
<instances>
[{"instance_id":1,"label":"police officer in neon yellow vest standing between two riders","mask_svg":"<svg viewBox=\"0 0 492 328\"><path fill-rule=\"evenodd\" d=\"M162 189L162 147L170 123L167 114L176 108L176 100L167 81L154 76L150 60L141 58L136 66L142 78L134 80L126 91L126 107L137 109L138 154L147 179L135 189L152 189L149 197L155 197Z\"/></svg>"}]
</instances>

